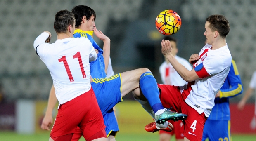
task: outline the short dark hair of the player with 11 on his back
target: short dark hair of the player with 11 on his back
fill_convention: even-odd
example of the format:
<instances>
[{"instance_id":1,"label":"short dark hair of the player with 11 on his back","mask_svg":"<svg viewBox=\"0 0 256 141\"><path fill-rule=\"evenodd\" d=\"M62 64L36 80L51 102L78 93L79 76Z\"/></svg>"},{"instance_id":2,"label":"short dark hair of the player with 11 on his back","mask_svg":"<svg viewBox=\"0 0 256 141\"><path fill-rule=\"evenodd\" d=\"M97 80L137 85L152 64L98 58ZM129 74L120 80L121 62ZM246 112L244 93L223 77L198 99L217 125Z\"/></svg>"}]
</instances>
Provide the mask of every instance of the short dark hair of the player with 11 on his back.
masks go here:
<instances>
[{"instance_id":1,"label":"short dark hair of the player with 11 on his back","mask_svg":"<svg viewBox=\"0 0 256 141\"><path fill-rule=\"evenodd\" d=\"M56 33L66 33L68 26L72 26L75 23L74 14L68 10L62 10L55 14L54 29Z\"/></svg>"}]
</instances>

